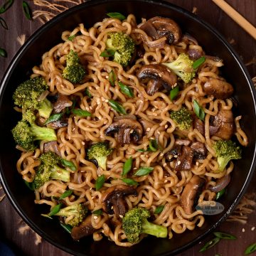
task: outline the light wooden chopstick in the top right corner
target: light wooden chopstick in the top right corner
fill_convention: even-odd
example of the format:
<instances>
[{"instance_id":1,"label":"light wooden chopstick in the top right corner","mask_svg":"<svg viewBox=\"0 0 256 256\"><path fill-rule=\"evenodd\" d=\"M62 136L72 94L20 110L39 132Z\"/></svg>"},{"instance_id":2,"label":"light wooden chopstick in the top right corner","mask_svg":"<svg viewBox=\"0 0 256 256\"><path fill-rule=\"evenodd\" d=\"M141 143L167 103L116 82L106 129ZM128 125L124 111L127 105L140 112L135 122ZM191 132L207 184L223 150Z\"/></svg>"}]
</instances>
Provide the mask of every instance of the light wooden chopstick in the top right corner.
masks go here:
<instances>
[{"instance_id":1,"label":"light wooden chopstick in the top right corner","mask_svg":"<svg viewBox=\"0 0 256 256\"><path fill-rule=\"evenodd\" d=\"M247 21L241 14L238 13L238 11L235 11L233 7L231 7L229 4L227 4L224 0L212 0L215 4L217 4L220 9L225 11L230 18L233 19L238 25L240 25L247 33L250 34L253 38L256 40L256 28L255 26L252 26L252 24Z\"/></svg>"}]
</instances>

